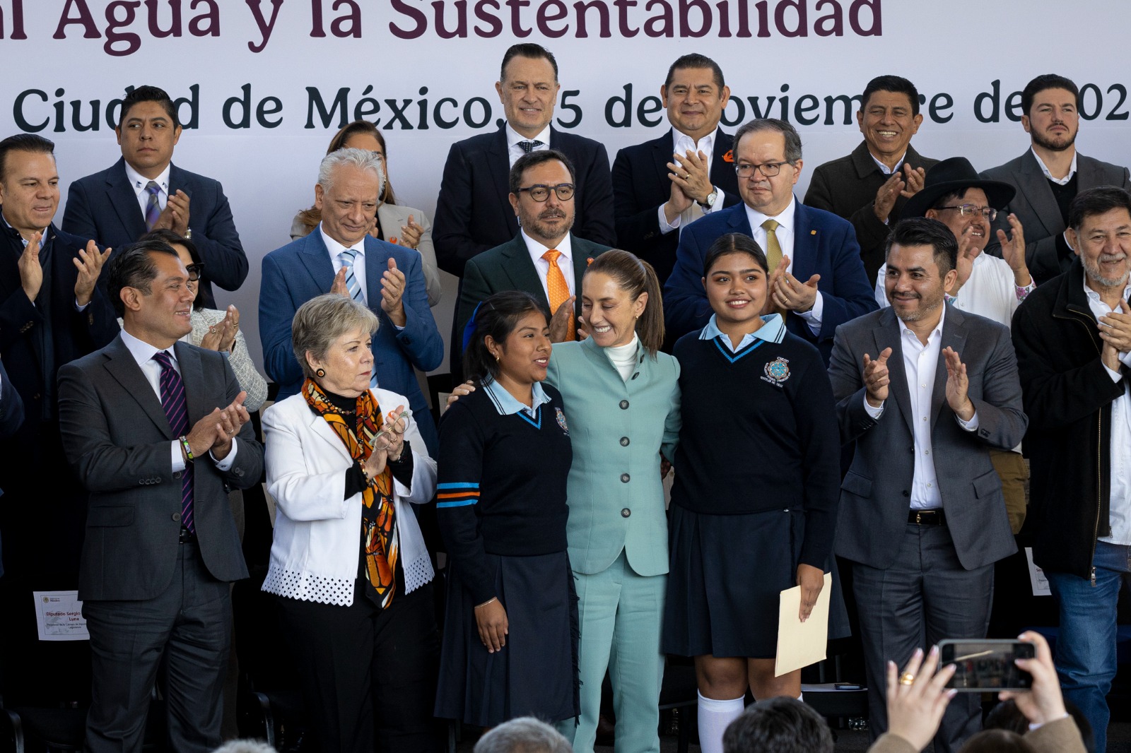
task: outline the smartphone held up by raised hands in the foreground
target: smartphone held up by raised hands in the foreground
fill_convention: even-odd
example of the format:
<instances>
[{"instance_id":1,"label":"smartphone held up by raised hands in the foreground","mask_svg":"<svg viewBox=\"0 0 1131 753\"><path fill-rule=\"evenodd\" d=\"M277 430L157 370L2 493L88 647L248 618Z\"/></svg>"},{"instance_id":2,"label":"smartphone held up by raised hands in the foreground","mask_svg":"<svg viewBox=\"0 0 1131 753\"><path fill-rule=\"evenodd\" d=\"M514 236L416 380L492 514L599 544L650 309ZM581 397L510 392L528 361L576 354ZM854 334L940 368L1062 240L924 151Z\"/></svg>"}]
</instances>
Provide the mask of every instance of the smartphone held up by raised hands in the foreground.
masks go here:
<instances>
[{"instance_id":1,"label":"smartphone held up by raised hands in the foreground","mask_svg":"<svg viewBox=\"0 0 1131 753\"><path fill-rule=\"evenodd\" d=\"M1033 675L1024 672L1013 659L1031 659L1037 647L1015 639L939 641L942 666L955 665L955 676L947 687L958 691L985 692L1033 687Z\"/></svg>"}]
</instances>

